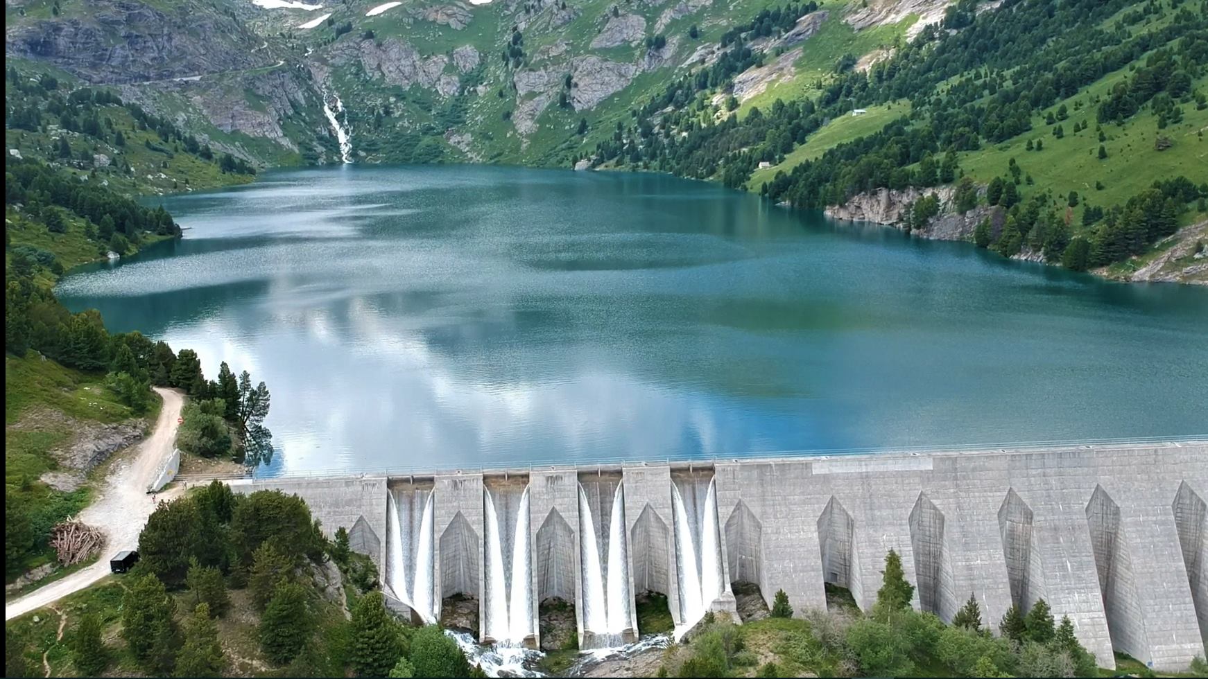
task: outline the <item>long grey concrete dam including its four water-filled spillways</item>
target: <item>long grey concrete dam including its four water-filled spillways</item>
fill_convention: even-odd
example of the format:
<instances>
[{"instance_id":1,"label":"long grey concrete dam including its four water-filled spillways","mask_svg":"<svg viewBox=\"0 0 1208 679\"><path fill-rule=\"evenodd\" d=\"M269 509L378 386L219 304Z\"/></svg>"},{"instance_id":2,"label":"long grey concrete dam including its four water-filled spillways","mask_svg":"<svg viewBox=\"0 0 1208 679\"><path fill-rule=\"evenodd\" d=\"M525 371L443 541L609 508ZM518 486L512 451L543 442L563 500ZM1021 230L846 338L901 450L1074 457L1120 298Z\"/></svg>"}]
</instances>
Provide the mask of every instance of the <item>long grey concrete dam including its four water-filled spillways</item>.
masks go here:
<instances>
[{"instance_id":1,"label":"long grey concrete dam including its four water-filled spillways","mask_svg":"<svg viewBox=\"0 0 1208 679\"><path fill-rule=\"evenodd\" d=\"M1051 449L262 479L349 531L391 605L435 621L477 602L483 643L539 646L541 602L573 602L580 648L637 639L634 598L676 633L734 615L734 583L825 608L876 601L885 554L913 605L951 621L970 595L997 630L1044 598L1098 663L1181 671L1208 645L1208 440Z\"/></svg>"}]
</instances>

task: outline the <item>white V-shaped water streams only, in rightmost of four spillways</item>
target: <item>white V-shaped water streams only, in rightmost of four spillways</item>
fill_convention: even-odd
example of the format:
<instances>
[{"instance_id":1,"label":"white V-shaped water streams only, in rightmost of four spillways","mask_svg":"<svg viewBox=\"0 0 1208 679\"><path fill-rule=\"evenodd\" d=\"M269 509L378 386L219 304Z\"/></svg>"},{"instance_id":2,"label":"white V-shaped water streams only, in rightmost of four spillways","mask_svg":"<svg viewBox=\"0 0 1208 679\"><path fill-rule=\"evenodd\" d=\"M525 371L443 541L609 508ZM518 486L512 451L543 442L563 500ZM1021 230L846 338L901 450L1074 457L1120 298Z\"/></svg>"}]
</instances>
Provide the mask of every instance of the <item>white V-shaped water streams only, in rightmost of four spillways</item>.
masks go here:
<instances>
[{"instance_id":1,"label":"white V-shaped water streams only, in rightmost of four spillways","mask_svg":"<svg viewBox=\"0 0 1208 679\"><path fill-rule=\"evenodd\" d=\"M721 540L718 533L718 497L716 485L709 481L703 508L703 516L695 522L701 527L696 535L693 522L689 520L687 508L679 486L672 482L672 502L675 514L675 564L679 568L680 626L676 637L690 630L704 616L709 604L725 590L721 573ZM698 497L693 507L701 507ZM697 551L696 545L701 545Z\"/></svg>"}]
</instances>

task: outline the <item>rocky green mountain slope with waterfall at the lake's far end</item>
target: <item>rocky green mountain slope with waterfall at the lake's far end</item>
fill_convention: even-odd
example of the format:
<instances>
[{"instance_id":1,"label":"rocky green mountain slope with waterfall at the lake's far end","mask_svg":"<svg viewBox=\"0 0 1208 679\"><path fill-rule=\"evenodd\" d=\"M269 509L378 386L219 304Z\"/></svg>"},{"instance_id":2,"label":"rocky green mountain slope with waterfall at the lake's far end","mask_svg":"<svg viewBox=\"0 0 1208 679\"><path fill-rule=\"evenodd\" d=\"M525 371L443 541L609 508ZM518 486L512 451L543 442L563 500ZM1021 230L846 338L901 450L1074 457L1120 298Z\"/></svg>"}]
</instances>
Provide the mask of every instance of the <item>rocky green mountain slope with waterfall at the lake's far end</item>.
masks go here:
<instances>
[{"instance_id":1,"label":"rocky green mountain slope with waterfall at the lake's far end","mask_svg":"<svg viewBox=\"0 0 1208 679\"><path fill-rule=\"evenodd\" d=\"M733 89L747 101L830 68L871 33L888 46L937 21L947 4L785 5L800 22L755 45L768 63L738 74ZM730 27L780 11L774 0L382 6L10 0L5 52L18 65L112 86L262 164L338 162L338 125L354 160L570 165L662 83L713 65ZM819 30L824 49L791 49Z\"/></svg>"}]
</instances>

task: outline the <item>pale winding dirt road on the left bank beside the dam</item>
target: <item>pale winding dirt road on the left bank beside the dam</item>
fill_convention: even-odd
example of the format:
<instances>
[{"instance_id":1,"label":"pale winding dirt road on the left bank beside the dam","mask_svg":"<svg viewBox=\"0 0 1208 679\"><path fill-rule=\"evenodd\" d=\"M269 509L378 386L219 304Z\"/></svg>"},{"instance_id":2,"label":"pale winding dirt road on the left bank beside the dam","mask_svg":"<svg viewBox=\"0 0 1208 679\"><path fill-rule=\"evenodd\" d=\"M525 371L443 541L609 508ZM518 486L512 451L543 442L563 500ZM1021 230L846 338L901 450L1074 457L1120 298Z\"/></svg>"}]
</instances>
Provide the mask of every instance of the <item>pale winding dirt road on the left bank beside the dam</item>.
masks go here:
<instances>
[{"instance_id":1,"label":"pale winding dirt road on the left bank beside the dam","mask_svg":"<svg viewBox=\"0 0 1208 679\"><path fill-rule=\"evenodd\" d=\"M151 435L139 444L133 457L120 460L114 464L104 487L100 488L100 497L80 513L81 521L95 526L105 534L105 546L101 548L100 558L97 563L76 570L62 580L5 603L5 620L42 608L100 580L109 574L110 556L123 549L138 546L139 532L155 510L151 496L146 492L147 485L159 463L172 455L173 443L176 440L176 420L185 400L178 391L159 387L155 391L163 398L163 408L159 410ZM172 499L181 492L178 487L157 497Z\"/></svg>"}]
</instances>

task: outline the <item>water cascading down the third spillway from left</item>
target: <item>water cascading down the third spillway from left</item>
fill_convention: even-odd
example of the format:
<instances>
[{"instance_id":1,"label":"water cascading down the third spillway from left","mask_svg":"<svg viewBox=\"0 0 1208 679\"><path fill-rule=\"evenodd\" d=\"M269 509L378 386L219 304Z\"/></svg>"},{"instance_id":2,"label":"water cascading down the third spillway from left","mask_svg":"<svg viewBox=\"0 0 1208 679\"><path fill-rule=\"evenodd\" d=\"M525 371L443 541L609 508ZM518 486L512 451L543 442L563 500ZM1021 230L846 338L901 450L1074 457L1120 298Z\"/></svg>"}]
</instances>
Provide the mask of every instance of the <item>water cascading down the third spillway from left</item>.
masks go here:
<instances>
[{"instance_id":1,"label":"water cascading down the third spillway from left","mask_svg":"<svg viewBox=\"0 0 1208 679\"><path fill-rule=\"evenodd\" d=\"M620 474L579 482L582 649L616 648L638 638Z\"/></svg>"}]
</instances>

